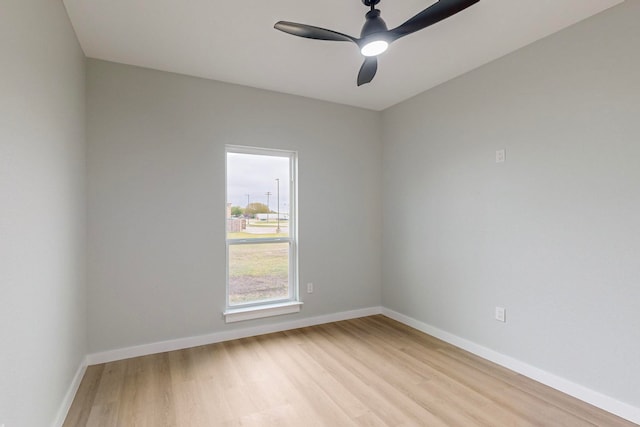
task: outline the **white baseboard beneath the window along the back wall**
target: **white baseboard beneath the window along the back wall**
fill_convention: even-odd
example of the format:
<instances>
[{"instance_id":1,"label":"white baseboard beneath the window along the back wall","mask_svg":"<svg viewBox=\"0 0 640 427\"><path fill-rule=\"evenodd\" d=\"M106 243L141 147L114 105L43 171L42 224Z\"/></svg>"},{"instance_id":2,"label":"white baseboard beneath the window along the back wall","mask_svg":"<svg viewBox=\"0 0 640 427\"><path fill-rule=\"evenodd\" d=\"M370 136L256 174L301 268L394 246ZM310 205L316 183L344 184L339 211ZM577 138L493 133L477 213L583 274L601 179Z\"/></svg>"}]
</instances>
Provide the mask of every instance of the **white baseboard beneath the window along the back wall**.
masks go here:
<instances>
[{"instance_id":1,"label":"white baseboard beneath the window along the back wall","mask_svg":"<svg viewBox=\"0 0 640 427\"><path fill-rule=\"evenodd\" d=\"M87 364L96 365L99 363L129 359L131 357L146 356L149 354L163 353L165 351L182 350L184 348L197 347L200 345L213 344L239 338L253 337L256 335L270 334L273 332L282 332L290 329L304 328L307 326L321 325L323 323L338 322L340 320L355 319L358 317L372 316L374 314L381 313L382 307L369 307L359 310L343 311L340 313L309 317L306 319L297 319L287 322L274 323L270 325L253 326L249 328L215 332L212 334L200 335L195 337L160 341L134 347L89 354L87 355Z\"/></svg>"}]
</instances>

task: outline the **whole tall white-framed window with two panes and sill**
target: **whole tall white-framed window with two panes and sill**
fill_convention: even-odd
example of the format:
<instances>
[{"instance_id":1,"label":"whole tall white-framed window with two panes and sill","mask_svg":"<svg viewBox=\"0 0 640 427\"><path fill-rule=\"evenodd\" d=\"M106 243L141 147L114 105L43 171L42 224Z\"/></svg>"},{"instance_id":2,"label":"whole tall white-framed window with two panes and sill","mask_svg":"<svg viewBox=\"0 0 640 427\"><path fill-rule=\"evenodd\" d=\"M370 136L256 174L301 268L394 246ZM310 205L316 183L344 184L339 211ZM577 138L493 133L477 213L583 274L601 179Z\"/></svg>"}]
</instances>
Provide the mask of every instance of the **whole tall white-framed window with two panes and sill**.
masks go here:
<instances>
[{"instance_id":1,"label":"whole tall white-framed window with two panes and sill","mask_svg":"<svg viewBox=\"0 0 640 427\"><path fill-rule=\"evenodd\" d=\"M300 311L296 154L227 146L227 322Z\"/></svg>"}]
</instances>

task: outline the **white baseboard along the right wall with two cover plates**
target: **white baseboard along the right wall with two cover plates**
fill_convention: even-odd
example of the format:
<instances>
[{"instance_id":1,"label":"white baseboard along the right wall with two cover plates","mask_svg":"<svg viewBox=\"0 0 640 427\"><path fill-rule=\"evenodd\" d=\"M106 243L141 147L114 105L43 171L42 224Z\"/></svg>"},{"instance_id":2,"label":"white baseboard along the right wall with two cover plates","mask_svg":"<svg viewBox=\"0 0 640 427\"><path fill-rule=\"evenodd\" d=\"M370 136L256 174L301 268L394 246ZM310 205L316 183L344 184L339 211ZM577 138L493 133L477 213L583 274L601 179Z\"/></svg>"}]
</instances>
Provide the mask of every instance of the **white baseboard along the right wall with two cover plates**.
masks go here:
<instances>
[{"instance_id":1,"label":"white baseboard along the right wall with two cover plates","mask_svg":"<svg viewBox=\"0 0 640 427\"><path fill-rule=\"evenodd\" d=\"M426 334L439 338L442 341L445 341L449 344L455 345L456 347L480 356L483 359L487 359L493 363L515 371L533 380L536 380L551 388L559 390L565 394L568 394L569 396L573 396L626 420L629 420L636 424L640 424L640 408L636 408L635 406L621 402L590 388L584 387L580 384L576 384L565 378L544 371L540 368L536 368L535 366L528 365L520 360L498 353L497 351L483 347L472 341L461 338L457 335L453 335L429 324L420 322L419 320L416 320L409 316L405 316L404 314L400 314L387 308L382 309L382 314L394 320L397 320L400 323L404 323L407 326L411 326L412 328L415 328Z\"/></svg>"}]
</instances>

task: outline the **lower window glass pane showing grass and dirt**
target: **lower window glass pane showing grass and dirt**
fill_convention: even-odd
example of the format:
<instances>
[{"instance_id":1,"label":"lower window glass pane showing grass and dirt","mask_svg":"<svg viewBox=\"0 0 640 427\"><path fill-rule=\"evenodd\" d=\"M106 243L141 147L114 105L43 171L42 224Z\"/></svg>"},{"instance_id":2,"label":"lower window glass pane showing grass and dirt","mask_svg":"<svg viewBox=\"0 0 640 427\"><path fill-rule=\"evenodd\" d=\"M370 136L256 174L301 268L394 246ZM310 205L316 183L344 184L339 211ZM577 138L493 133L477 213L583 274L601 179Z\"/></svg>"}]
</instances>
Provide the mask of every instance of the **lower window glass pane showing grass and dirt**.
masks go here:
<instances>
[{"instance_id":1,"label":"lower window glass pane showing grass and dirt","mask_svg":"<svg viewBox=\"0 0 640 427\"><path fill-rule=\"evenodd\" d=\"M289 297L289 243L229 245L229 305Z\"/></svg>"}]
</instances>

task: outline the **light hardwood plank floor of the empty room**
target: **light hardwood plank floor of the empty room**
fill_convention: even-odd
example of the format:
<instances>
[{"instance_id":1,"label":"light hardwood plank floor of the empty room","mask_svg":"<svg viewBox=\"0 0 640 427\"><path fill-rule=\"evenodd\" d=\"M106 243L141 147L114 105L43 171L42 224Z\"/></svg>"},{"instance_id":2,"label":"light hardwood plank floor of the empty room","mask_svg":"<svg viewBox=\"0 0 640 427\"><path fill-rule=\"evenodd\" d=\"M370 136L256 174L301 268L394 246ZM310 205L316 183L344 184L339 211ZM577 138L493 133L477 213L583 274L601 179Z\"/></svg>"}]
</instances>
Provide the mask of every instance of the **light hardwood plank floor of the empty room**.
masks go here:
<instances>
[{"instance_id":1,"label":"light hardwood plank floor of the empty room","mask_svg":"<svg viewBox=\"0 0 640 427\"><path fill-rule=\"evenodd\" d=\"M634 426L384 316L90 366L65 426Z\"/></svg>"}]
</instances>

